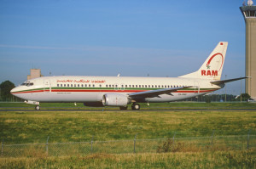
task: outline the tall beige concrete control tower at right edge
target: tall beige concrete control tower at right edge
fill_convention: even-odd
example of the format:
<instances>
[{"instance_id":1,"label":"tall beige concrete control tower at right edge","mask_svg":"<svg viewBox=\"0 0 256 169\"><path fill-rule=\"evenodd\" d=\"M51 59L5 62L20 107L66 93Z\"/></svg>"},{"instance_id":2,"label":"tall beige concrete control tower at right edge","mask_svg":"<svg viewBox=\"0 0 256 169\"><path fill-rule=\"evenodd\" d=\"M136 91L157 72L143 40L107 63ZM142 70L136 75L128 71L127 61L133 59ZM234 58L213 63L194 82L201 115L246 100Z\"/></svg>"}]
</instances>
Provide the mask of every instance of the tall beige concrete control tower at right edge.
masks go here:
<instances>
[{"instance_id":1,"label":"tall beige concrete control tower at right edge","mask_svg":"<svg viewBox=\"0 0 256 169\"><path fill-rule=\"evenodd\" d=\"M256 100L256 6L253 0L240 7L246 23L246 93Z\"/></svg>"}]
</instances>

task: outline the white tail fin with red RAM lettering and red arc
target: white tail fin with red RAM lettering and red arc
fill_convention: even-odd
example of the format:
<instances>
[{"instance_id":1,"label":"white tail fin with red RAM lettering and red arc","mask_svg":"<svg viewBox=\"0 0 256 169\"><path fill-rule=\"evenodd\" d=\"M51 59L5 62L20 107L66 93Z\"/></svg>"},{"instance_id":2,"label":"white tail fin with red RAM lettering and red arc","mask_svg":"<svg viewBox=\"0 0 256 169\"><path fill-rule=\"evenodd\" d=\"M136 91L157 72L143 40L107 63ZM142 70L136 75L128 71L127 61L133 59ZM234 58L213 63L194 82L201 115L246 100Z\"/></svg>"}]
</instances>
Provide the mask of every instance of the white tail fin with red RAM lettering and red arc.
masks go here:
<instances>
[{"instance_id":1,"label":"white tail fin with red RAM lettering and red arc","mask_svg":"<svg viewBox=\"0 0 256 169\"><path fill-rule=\"evenodd\" d=\"M218 45L212 51L201 68L193 73L179 77L191 77L220 80L223 70L224 59L228 48L228 42L218 42Z\"/></svg>"}]
</instances>

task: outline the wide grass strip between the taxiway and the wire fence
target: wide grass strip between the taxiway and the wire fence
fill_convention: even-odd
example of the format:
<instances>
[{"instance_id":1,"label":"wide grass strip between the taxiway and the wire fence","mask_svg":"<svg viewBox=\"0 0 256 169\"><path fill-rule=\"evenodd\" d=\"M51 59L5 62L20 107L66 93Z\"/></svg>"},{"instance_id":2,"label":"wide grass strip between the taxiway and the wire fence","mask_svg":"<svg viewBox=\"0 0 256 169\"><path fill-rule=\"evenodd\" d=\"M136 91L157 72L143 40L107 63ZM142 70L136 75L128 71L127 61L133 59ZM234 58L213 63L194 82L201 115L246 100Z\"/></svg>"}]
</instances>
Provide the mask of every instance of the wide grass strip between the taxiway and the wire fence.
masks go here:
<instances>
[{"instance_id":1,"label":"wide grass strip between the taxiway and the wire fence","mask_svg":"<svg viewBox=\"0 0 256 169\"><path fill-rule=\"evenodd\" d=\"M6 144L247 135L256 111L0 111Z\"/></svg>"}]
</instances>

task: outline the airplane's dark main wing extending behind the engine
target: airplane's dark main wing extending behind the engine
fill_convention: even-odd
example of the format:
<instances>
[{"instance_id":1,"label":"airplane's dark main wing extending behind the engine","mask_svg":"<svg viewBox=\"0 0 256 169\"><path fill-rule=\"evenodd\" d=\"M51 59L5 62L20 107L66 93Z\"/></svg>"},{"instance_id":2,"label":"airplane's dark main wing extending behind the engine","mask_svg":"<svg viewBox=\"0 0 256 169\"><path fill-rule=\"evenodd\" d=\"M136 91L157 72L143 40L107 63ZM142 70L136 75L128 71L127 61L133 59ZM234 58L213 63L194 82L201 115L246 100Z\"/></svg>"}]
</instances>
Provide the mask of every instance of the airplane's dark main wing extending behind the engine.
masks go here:
<instances>
[{"instance_id":1,"label":"airplane's dark main wing extending behind the engine","mask_svg":"<svg viewBox=\"0 0 256 169\"><path fill-rule=\"evenodd\" d=\"M173 92L176 92L177 90L181 90L183 88L189 88L189 87L173 87L173 88L162 88L158 90L149 90L145 92L138 92L138 93L129 93L129 97L131 99L146 99L146 98L154 98L159 97L160 94L169 94L172 95Z\"/></svg>"}]
</instances>

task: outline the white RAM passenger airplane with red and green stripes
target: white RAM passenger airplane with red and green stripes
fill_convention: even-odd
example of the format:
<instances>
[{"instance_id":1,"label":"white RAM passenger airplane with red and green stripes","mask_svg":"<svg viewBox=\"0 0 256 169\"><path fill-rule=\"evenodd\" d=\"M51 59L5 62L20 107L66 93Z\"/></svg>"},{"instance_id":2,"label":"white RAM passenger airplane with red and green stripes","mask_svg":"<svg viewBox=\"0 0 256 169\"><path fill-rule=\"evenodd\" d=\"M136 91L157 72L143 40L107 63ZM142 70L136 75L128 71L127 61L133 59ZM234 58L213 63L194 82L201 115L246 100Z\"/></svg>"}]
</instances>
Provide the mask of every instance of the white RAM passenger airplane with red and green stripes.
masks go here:
<instances>
[{"instance_id":1,"label":"white RAM passenger airplane with red and green stripes","mask_svg":"<svg viewBox=\"0 0 256 169\"><path fill-rule=\"evenodd\" d=\"M23 82L11 93L26 104L84 103L85 106L115 106L140 110L139 103L161 103L189 99L223 88L220 80L228 42L218 42L199 70L178 77L137 76L44 76Z\"/></svg>"}]
</instances>

